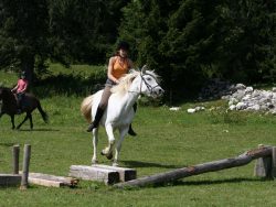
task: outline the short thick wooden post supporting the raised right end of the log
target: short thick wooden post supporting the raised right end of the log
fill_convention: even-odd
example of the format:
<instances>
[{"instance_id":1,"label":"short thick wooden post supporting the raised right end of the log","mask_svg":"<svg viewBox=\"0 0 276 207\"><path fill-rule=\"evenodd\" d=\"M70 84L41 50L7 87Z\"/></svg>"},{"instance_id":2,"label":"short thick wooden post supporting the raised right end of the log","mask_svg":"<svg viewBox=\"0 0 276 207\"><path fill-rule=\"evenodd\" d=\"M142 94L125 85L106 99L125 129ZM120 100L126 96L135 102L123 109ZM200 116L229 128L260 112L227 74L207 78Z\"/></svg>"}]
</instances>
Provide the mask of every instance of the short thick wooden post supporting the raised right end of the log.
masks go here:
<instances>
[{"instance_id":1,"label":"short thick wooden post supporting the raised right end of the log","mask_svg":"<svg viewBox=\"0 0 276 207\"><path fill-rule=\"evenodd\" d=\"M258 144L258 149L265 148ZM254 167L254 175L264 178L272 178L272 155L257 159Z\"/></svg>"}]
</instances>

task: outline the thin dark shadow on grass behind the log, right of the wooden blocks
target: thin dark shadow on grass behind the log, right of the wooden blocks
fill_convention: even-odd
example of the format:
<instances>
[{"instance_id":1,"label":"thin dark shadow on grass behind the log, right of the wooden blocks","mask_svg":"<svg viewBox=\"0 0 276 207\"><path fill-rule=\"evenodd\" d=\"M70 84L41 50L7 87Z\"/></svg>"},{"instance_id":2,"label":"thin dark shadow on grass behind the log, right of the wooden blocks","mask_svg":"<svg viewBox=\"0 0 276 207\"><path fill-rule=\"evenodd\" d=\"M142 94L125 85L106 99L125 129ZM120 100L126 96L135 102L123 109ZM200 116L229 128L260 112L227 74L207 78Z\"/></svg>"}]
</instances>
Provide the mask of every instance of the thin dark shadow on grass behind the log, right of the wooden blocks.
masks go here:
<instances>
[{"instance_id":1,"label":"thin dark shadow on grass behind the log, right of the wooden blocks","mask_svg":"<svg viewBox=\"0 0 276 207\"><path fill-rule=\"evenodd\" d=\"M120 161L126 167L160 167L160 168L180 168L185 166L162 164L162 163L151 163L141 161Z\"/></svg>"}]
</instances>

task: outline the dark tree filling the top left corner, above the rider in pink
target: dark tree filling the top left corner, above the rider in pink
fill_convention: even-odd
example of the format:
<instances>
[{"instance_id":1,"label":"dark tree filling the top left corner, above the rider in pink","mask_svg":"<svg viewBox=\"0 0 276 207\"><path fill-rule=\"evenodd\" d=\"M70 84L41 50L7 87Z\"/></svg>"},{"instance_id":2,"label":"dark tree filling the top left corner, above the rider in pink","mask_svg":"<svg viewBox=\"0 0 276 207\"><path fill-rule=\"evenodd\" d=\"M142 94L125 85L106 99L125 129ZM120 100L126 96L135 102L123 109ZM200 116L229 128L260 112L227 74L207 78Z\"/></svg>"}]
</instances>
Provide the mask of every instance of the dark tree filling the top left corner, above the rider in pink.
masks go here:
<instances>
[{"instance_id":1,"label":"dark tree filling the top left corner, above the rider in pink","mask_svg":"<svg viewBox=\"0 0 276 207\"><path fill-rule=\"evenodd\" d=\"M2 66L25 70L32 79L35 57L43 58L47 50L46 0L2 0L0 4L0 50Z\"/></svg>"}]
</instances>

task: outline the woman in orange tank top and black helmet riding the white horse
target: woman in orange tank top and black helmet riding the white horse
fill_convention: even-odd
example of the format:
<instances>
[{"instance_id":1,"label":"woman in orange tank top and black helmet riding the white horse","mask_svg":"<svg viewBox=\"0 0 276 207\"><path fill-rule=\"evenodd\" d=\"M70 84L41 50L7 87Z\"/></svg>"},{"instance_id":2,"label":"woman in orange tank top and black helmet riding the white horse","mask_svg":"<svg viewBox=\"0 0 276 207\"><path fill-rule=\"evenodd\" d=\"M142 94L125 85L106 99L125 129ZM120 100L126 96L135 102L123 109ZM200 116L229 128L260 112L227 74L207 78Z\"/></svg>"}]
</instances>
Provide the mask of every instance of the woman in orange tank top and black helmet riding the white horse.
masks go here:
<instances>
[{"instance_id":1,"label":"woman in orange tank top and black helmet riding the white horse","mask_svg":"<svg viewBox=\"0 0 276 207\"><path fill-rule=\"evenodd\" d=\"M108 68L107 68L107 80L105 89L100 99L100 102L97 108L95 120L89 124L87 132L92 132L94 128L97 128L99 121L105 112L105 109L108 103L108 99L112 95L112 87L119 84L119 78L129 72L130 68L134 68L134 64L130 58L128 58L129 44L127 42L119 42L117 46L117 53L115 56L109 58ZM134 105L134 110L136 111L137 105ZM128 133L130 135L136 135L136 132L132 130L131 124L129 126Z\"/></svg>"}]
</instances>

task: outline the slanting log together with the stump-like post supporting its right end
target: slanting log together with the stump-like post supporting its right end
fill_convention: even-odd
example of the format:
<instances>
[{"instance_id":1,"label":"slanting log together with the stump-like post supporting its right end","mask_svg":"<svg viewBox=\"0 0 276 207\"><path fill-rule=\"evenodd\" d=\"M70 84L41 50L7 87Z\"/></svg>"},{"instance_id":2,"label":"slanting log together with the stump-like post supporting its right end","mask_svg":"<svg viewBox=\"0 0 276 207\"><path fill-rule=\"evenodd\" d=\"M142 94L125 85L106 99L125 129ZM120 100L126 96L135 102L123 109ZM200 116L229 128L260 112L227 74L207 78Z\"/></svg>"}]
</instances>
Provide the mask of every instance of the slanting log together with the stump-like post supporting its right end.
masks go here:
<instances>
[{"instance_id":1,"label":"slanting log together with the stump-like post supporting its right end","mask_svg":"<svg viewBox=\"0 0 276 207\"><path fill-rule=\"evenodd\" d=\"M167 173L155 174L124 183L115 184L117 188L142 187L147 185L173 182L183 177L199 175L208 172L215 172L231 167L243 166L256 160L254 175L259 177L276 177L276 146L259 145L258 149L250 150L236 157L213 161L183 168L178 168Z\"/></svg>"}]
</instances>

